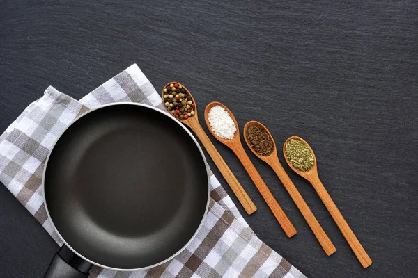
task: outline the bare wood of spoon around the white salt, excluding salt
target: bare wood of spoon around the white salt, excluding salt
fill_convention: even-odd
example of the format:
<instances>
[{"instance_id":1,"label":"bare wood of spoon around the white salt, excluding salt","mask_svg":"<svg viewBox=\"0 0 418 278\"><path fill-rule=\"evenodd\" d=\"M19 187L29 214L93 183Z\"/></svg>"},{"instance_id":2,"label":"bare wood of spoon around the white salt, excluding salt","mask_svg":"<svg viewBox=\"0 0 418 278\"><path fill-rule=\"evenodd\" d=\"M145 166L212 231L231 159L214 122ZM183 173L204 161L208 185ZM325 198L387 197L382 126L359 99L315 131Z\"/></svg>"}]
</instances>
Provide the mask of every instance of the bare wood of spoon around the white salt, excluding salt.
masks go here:
<instances>
[{"instance_id":1,"label":"bare wood of spoon around the white salt, excluding salt","mask_svg":"<svg viewBox=\"0 0 418 278\"><path fill-rule=\"evenodd\" d=\"M209 114L210 108L212 108L213 106L224 107L225 110L231 116L237 128L237 131L235 131L235 135L233 139L220 138L212 131L212 127L210 126L210 123L208 120L208 114ZM229 111L228 108L226 108L223 104L220 104L219 102L211 102L210 104L208 104L208 106L206 106L206 109L205 109L205 121L206 121L206 125L208 126L210 133L212 133L212 135L215 136L215 138L217 138L219 142L222 142L224 145L229 147L235 153L235 155L238 156L242 165L244 165L245 170L247 170L249 177L251 177L252 181L254 181L258 191L260 191L265 202L268 204L272 213L276 217L277 221L279 221L281 227L284 229L284 232L286 233L286 235L289 238L291 236L294 236L296 234L295 227L293 227L293 224L291 223L291 221L288 219L284 211L281 209L276 199L274 199L274 196L272 195L268 187L265 185L260 174L258 174L256 167L254 167L253 163L251 163L251 160L247 156L247 153L245 152L244 148L242 147L241 140L240 140L240 132L238 129L238 123L235 120L235 117L233 116L231 111Z\"/></svg>"}]
</instances>

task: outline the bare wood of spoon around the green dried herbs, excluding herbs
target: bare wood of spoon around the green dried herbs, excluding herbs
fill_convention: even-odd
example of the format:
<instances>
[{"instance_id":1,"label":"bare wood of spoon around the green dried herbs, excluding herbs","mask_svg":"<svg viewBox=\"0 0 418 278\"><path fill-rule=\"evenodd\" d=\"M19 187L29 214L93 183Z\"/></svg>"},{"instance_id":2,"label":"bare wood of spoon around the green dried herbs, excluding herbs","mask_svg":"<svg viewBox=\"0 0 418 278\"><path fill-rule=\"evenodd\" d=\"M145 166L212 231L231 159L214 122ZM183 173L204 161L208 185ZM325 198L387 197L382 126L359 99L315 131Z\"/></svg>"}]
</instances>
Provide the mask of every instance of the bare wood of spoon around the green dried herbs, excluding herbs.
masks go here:
<instances>
[{"instance_id":1,"label":"bare wood of spoon around the green dried herbs, excluding herbs","mask_svg":"<svg viewBox=\"0 0 418 278\"><path fill-rule=\"evenodd\" d=\"M307 145L307 147L309 147L311 153L314 155L314 166L311 168L311 170L306 171L306 172L297 170L295 167L293 167L291 162L288 160L286 156L286 144L291 139L300 140L304 142L304 144ZM363 246L359 243L359 240L357 239L353 231L350 229L350 226L348 226L346 220L343 218L343 215L341 214L339 209L336 207L334 201L332 201L330 194L327 193L327 190L325 189L322 182L320 181L319 176L318 176L318 168L316 167L315 154L314 154L314 151L311 149L311 147L308 145L308 143L298 136L292 136L291 138L288 138L286 142L284 142L283 154L289 167L291 167L292 170L295 171L297 174L299 174L300 176L307 179L310 183L312 183L312 186L314 186L316 193L318 193L320 199L323 201L323 203L327 207L327 210L330 211L330 214L332 218L334 218L336 225L339 227L344 238L346 238L354 254L357 256L357 259L359 259L360 263L362 263L363 268L367 268L369 265L371 265L372 261L369 255L366 253Z\"/></svg>"}]
</instances>

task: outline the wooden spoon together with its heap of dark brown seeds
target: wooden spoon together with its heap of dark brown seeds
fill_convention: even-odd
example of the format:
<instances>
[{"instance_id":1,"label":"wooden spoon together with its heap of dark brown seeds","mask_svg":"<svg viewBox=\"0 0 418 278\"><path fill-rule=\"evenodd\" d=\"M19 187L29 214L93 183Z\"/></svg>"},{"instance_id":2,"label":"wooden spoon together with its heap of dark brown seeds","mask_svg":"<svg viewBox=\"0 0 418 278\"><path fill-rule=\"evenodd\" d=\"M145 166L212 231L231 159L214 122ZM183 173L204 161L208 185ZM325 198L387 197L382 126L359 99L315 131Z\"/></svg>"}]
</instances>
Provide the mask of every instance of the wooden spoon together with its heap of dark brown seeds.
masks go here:
<instances>
[{"instance_id":1,"label":"wooden spoon together with its heap of dark brown seeds","mask_svg":"<svg viewBox=\"0 0 418 278\"><path fill-rule=\"evenodd\" d=\"M260 122L247 122L244 126L244 138L249 149L251 149L251 152L270 165L274 172L276 172L277 177L279 177L281 183L283 183L289 195L291 195L293 202L295 202L300 213L302 213L304 219L309 224L309 227L314 232L318 242L323 247L325 254L328 256L334 254L335 246L332 244L327 234L325 234L323 227L321 227L318 220L316 220L314 213L312 213L302 195L300 195L296 186L281 166L279 158L277 157L276 144L274 143L270 131L268 131L268 129Z\"/></svg>"}]
</instances>

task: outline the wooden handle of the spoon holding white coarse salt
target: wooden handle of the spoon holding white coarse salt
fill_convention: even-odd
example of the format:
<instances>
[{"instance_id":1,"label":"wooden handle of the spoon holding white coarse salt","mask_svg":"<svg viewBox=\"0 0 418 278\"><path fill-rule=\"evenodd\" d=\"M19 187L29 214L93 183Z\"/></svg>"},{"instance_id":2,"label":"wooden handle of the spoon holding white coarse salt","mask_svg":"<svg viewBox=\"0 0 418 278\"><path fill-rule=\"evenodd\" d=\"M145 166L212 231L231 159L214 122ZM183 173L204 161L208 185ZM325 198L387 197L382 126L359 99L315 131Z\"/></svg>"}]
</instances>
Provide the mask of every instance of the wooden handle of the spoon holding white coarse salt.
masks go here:
<instances>
[{"instance_id":1,"label":"wooden handle of the spoon holding white coarse salt","mask_svg":"<svg viewBox=\"0 0 418 278\"><path fill-rule=\"evenodd\" d=\"M289 238L294 236L296 234L295 227L293 227L291 220L288 219L286 213L284 213L279 203L277 203L277 200L274 199L274 196L272 195L270 189L268 189L267 185L264 183L260 174L258 174L256 167L254 167L254 164L251 162L251 160L247 156L247 153L245 152L242 145L240 143L234 144L233 146L231 146L231 149L238 156L242 165L245 167L245 170L247 170L249 177L251 177L258 191L260 191L265 202L270 207L270 210L276 217L277 221L279 221L279 224L284 229L286 236L288 236Z\"/></svg>"}]
</instances>

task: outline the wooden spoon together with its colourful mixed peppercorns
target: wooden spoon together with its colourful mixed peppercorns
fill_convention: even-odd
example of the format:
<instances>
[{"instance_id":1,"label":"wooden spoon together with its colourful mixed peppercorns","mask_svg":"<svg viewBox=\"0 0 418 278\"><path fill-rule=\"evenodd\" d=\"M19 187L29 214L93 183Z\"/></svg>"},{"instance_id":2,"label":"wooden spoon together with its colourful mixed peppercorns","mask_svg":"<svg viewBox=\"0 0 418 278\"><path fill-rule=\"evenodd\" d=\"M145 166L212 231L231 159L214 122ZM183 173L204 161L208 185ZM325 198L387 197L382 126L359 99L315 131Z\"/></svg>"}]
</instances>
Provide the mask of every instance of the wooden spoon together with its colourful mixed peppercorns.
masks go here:
<instances>
[{"instance_id":1,"label":"wooden spoon together with its colourful mixed peppercorns","mask_svg":"<svg viewBox=\"0 0 418 278\"><path fill-rule=\"evenodd\" d=\"M167 83L167 85L164 86L164 89L162 89L162 101L167 110L176 117L177 120L186 126L189 126L194 134L196 134L245 211L249 215L254 213L254 211L257 210L256 205L252 202L244 188L242 188L238 179L233 172L231 172L228 165L226 165L222 156L212 142L210 142L206 132L203 131L201 124L199 124L196 102L189 90L178 82Z\"/></svg>"}]
</instances>

